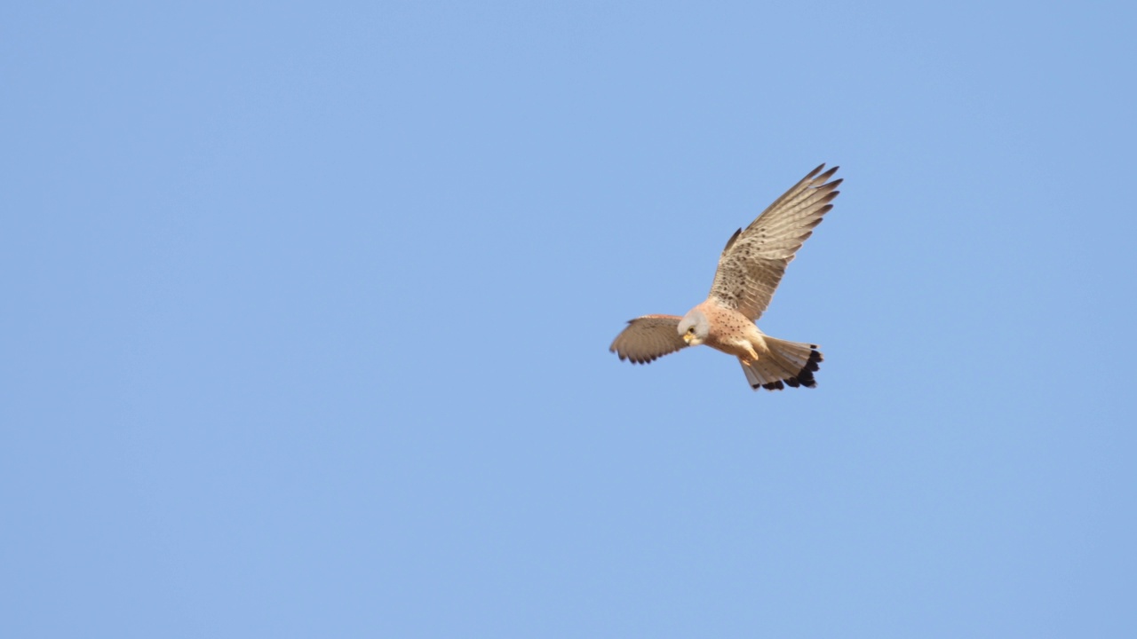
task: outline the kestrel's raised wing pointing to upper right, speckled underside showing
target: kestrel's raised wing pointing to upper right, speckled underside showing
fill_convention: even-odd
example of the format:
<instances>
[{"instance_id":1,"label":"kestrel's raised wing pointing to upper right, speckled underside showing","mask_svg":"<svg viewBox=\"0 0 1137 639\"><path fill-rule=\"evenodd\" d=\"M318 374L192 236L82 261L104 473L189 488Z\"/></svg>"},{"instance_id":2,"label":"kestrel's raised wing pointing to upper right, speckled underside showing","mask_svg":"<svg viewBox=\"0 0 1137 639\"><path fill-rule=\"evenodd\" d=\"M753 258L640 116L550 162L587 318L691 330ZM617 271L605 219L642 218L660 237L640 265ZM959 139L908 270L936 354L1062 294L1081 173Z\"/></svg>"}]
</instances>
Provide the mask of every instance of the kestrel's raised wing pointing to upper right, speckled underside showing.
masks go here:
<instances>
[{"instance_id":1,"label":"kestrel's raised wing pointing to upper right, speckled underside showing","mask_svg":"<svg viewBox=\"0 0 1137 639\"><path fill-rule=\"evenodd\" d=\"M825 182L837 167L821 173L823 168L825 165L814 168L730 238L719 258L711 298L750 320L762 316L786 266L813 234L813 227L821 224L821 216L833 208L829 202L840 192L840 180Z\"/></svg>"}]
</instances>

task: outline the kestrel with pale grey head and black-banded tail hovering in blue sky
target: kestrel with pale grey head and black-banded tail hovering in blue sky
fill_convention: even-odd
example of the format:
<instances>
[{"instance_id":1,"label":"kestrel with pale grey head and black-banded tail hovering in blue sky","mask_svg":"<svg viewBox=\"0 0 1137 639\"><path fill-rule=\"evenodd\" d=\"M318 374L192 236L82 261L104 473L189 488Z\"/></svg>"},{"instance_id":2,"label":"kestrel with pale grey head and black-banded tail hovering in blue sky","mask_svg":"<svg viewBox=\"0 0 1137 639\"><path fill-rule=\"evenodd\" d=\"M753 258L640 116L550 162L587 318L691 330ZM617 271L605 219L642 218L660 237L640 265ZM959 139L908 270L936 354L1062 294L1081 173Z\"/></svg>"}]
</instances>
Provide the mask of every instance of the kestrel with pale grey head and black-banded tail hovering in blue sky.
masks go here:
<instances>
[{"instance_id":1,"label":"kestrel with pale grey head and black-banded tail hovering in blue sky","mask_svg":"<svg viewBox=\"0 0 1137 639\"><path fill-rule=\"evenodd\" d=\"M827 182L837 167L814 168L774 200L745 230L727 241L706 301L687 315L645 315L628 322L608 348L620 359L647 364L688 346L707 345L738 357L750 388L814 388L813 372L822 360L818 345L790 342L764 334L755 322L765 312L786 265L802 248L821 217L833 208L840 180Z\"/></svg>"}]
</instances>

